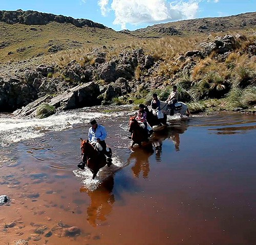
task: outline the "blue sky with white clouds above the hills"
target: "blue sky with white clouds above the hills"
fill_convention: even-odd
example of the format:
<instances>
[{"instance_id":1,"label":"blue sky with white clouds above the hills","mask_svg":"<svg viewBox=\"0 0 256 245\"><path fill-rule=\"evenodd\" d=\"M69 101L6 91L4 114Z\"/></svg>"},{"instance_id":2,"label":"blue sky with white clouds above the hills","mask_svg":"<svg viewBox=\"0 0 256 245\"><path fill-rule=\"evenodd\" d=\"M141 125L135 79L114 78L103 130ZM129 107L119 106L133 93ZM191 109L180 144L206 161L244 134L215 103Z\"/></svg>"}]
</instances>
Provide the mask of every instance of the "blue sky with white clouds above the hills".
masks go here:
<instances>
[{"instance_id":1,"label":"blue sky with white clouds above the hills","mask_svg":"<svg viewBox=\"0 0 256 245\"><path fill-rule=\"evenodd\" d=\"M256 0L0 0L1 10L36 10L87 18L115 30L188 18L256 11Z\"/></svg>"}]
</instances>

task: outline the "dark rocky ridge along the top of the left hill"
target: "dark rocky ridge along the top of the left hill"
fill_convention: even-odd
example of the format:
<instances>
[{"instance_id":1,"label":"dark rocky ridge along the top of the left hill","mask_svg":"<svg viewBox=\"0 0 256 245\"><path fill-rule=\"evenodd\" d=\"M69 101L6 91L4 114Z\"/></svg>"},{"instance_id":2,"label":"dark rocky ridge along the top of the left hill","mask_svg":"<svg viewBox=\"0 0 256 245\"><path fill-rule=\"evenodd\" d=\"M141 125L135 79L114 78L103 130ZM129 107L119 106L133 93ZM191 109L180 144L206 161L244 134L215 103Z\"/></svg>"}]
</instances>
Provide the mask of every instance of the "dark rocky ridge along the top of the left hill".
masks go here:
<instances>
[{"instance_id":1,"label":"dark rocky ridge along the top of the left hill","mask_svg":"<svg viewBox=\"0 0 256 245\"><path fill-rule=\"evenodd\" d=\"M51 21L58 23L70 23L76 27L96 27L100 29L105 29L106 27L102 24L95 23L89 19L74 19L72 17L66 17L63 15L55 15L48 13L40 13L37 11L0 11L0 21L7 24L20 23L25 25L46 25Z\"/></svg>"}]
</instances>

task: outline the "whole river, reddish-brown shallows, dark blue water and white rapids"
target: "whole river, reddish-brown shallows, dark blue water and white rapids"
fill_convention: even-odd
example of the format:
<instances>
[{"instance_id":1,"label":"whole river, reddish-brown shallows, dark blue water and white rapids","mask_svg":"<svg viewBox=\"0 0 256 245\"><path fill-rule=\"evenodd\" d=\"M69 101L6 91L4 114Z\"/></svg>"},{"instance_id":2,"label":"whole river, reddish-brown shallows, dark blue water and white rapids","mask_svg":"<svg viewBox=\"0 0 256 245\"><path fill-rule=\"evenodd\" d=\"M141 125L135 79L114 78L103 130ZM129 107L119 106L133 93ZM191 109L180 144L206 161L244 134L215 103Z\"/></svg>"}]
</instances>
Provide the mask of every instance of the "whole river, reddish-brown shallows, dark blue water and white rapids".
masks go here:
<instances>
[{"instance_id":1,"label":"whole river, reddish-brown shallows, dark blue water and white rapids","mask_svg":"<svg viewBox=\"0 0 256 245\"><path fill-rule=\"evenodd\" d=\"M256 117L176 117L131 150L130 114L123 106L0 116L0 194L11 198L0 206L1 244L256 244ZM76 167L91 118L114 152L94 181ZM67 237L65 226L81 234Z\"/></svg>"}]
</instances>

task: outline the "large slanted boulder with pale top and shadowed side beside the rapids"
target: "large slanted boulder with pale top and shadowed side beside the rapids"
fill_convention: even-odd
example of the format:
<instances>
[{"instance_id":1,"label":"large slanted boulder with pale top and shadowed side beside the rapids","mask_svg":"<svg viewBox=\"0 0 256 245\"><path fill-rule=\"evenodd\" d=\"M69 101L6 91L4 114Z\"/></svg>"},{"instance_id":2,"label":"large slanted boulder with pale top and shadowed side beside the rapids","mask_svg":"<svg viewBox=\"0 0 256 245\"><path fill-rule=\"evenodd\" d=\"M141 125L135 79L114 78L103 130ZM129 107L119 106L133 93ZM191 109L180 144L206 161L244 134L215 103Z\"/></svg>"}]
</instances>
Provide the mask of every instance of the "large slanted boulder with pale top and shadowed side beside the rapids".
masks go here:
<instances>
[{"instance_id":1,"label":"large slanted boulder with pale top and shadowed side beside the rapids","mask_svg":"<svg viewBox=\"0 0 256 245\"><path fill-rule=\"evenodd\" d=\"M71 90L52 98L49 104L55 108L61 107L61 110L94 106L100 104L99 95L99 85L89 82L73 87Z\"/></svg>"}]
</instances>

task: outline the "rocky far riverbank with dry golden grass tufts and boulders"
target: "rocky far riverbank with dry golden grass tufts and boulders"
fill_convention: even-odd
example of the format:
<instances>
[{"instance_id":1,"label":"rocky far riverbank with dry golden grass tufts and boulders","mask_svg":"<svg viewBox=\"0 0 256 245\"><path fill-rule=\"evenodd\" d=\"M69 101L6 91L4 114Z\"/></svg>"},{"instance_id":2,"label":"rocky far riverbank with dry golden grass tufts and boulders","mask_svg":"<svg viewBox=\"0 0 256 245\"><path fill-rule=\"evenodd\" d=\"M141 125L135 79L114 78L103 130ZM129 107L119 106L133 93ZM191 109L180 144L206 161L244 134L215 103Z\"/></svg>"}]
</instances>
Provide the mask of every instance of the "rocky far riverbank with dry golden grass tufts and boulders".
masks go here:
<instances>
[{"instance_id":1,"label":"rocky far riverbank with dry golden grass tufts and boulders","mask_svg":"<svg viewBox=\"0 0 256 245\"><path fill-rule=\"evenodd\" d=\"M32 66L30 61L4 64L0 111L13 112L31 102L35 107L48 103L57 111L146 103L153 93L165 100L174 84L191 111L219 105L250 109L256 104L254 34L137 40L133 47L61 51Z\"/></svg>"}]
</instances>

